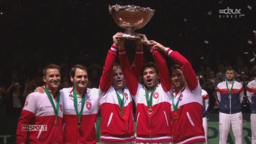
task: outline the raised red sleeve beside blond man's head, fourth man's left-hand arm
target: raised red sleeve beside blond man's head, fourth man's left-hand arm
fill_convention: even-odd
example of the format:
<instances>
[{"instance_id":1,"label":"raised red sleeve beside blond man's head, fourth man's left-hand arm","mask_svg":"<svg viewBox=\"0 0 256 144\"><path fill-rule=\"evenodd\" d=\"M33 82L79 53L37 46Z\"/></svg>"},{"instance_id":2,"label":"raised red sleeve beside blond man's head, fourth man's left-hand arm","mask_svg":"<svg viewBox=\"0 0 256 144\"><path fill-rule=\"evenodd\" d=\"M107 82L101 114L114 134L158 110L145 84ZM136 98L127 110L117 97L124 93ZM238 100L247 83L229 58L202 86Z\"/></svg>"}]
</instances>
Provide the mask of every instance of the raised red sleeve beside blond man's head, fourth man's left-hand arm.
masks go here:
<instances>
[{"instance_id":1,"label":"raised red sleeve beside blond man's head, fourth man's left-hand arm","mask_svg":"<svg viewBox=\"0 0 256 144\"><path fill-rule=\"evenodd\" d=\"M126 53L120 52L119 59L120 59L120 65L124 73L124 78L126 80L126 84L130 91L130 94L132 96L135 96L138 90L139 83L138 83L138 80L136 79L136 76L132 74L132 69L130 68L129 60L127 58Z\"/></svg>"}]
</instances>

